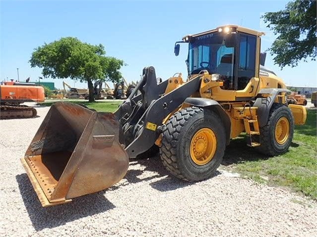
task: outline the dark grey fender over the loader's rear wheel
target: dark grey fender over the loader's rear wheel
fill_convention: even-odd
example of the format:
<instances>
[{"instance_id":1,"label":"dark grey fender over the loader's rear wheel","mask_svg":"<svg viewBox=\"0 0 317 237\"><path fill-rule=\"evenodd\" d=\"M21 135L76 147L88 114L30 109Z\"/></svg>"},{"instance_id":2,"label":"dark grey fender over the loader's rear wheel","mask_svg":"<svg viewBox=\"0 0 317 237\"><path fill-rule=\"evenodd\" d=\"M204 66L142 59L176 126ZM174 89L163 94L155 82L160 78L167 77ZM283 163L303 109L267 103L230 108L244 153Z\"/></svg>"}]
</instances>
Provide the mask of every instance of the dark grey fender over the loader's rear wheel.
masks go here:
<instances>
[{"instance_id":1,"label":"dark grey fender over the loader's rear wheel","mask_svg":"<svg viewBox=\"0 0 317 237\"><path fill-rule=\"evenodd\" d=\"M265 88L258 92L253 106L257 107L256 114L260 128L267 124L270 109L274 103L274 100L278 94L283 92L290 93L291 91L282 88ZM262 94L269 94L269 96L263 97Z\"/></svg>"}]
</instances>

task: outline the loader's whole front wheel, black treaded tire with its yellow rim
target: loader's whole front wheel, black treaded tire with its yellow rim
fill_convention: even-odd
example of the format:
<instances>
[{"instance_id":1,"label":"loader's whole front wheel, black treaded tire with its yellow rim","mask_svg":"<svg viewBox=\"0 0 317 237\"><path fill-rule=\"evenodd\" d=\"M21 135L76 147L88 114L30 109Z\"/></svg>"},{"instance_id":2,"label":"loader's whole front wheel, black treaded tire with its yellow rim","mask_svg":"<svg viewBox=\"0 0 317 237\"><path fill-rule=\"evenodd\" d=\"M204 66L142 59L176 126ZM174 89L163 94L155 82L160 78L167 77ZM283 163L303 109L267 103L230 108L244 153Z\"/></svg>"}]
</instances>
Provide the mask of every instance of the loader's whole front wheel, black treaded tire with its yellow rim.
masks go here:
<instances>
[{"instance_id":1,"label":"loader's whole front wheel, black treaded tire with its yellow rim","mask_svg":"<svg viewBox=\"0 0 317 237\"><path fill-rule=\"evenodd\" d=\"M225 147L225 129L218 114L189 107L176 112L167 122L160 156L172 175L196 182L213 176Z\"/></svg>"}]
</instances>

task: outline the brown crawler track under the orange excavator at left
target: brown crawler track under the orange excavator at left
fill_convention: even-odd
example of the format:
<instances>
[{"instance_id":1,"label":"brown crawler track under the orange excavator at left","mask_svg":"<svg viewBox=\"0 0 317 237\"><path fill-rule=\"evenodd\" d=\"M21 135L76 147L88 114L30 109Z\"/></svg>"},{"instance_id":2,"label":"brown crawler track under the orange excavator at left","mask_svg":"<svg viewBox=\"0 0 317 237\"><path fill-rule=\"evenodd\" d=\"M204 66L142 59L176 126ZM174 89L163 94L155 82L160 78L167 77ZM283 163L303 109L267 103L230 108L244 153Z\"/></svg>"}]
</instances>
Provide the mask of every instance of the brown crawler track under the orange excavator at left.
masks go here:
<instances>
[{"instance_id":1,"label":"brown crawler track under the orange excavator at left","mask_svg":"<svg viewBox=\"0 0 317 237\"><path fill-rule=\"evenodd\" d=\"M26 105L0 105L0 119L34 118L37 111Z\"/></svg>"}]
</instances>

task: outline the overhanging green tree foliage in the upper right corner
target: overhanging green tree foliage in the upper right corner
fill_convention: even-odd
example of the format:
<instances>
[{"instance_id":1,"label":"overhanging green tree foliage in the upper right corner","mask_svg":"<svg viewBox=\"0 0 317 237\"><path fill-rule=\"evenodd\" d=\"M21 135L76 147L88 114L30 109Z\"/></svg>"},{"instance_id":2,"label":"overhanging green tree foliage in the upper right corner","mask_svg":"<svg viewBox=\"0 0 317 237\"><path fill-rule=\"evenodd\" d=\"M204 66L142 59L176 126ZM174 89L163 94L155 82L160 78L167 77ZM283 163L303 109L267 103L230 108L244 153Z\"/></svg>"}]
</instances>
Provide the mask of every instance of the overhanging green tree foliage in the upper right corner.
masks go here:
<instances>
[{"instance_id":1,"label":"overhanging green tree foliage in the upper right corner","mask_svg":"<svg viewBox=\"0 0 317 237\"><path fill-rule=\"evenodd\" d=\"M278 35L269 50L281 68L297 66L302 59L316 60L316 10L316 0L294 0L284 10L262 16Z\"/></svg>"}]
</instances>

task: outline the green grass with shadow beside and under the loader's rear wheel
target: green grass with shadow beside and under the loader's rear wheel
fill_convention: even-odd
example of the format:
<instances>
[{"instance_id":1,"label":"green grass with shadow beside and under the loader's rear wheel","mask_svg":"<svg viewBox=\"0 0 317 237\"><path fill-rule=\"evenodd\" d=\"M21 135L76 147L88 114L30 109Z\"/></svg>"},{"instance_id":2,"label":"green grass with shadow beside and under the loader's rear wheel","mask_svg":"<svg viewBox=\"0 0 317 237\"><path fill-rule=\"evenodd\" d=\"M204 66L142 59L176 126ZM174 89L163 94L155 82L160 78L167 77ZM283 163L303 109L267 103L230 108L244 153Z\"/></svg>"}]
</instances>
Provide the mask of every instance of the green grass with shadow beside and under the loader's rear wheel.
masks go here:
<instances>
[{"instance_id":1,"label":"green grass with shadow beside and under the loader's rear wheel","mask_svg":"<svg viewBox=\"0 0 317 237\"><path fill-rule=\"evenodd\" d=\"M248 147L246 138L241 136L227 147L224 167L256 182L288 187L317 200L316 112L307 110L306 124L295 126L287 153L267 158Z\"/></svg>"}]
</instances>

